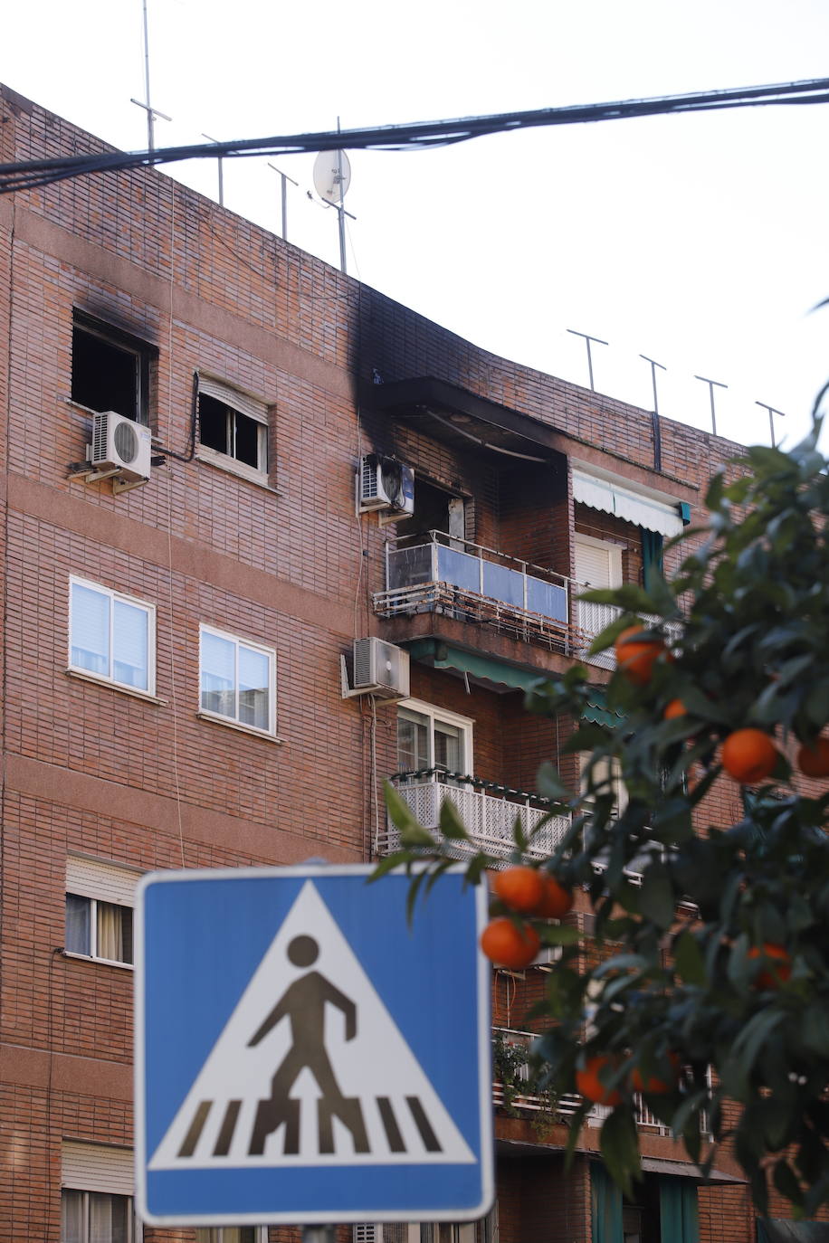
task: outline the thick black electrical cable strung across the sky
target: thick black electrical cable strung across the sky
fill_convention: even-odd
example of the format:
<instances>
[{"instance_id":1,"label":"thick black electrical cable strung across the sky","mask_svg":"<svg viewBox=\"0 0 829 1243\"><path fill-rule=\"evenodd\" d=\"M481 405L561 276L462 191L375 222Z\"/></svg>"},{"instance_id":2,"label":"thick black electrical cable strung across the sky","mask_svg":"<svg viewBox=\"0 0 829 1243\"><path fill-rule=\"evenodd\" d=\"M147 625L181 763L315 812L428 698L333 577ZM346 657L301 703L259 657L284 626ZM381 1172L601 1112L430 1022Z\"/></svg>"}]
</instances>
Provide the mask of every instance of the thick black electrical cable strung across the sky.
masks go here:
<instances>
[{"instance_id":1,"label":"thick black electrical cable strung across the sky","mask_svg":"<svg viewBox=\"0 0 829 1243\"><path fill-rule=\"evenodd\" d=\"M763 104L827 103L829 78L807 78L756 87L727 87L717 91L621 99L610 103L568 104L452 121L409 122L363 129L321 131L307 134L246 138L235 142L160 147L153 150L109 150L98 154L57 157L25 163L0 164L0 194L31 190L89 173L152 168L188 159L234 159L250 155L292 155L321 150L406 150L447 147L486 134L507 133L547 126L624 121L685 112L713 112Z\"/></svg>"}]
</instances>

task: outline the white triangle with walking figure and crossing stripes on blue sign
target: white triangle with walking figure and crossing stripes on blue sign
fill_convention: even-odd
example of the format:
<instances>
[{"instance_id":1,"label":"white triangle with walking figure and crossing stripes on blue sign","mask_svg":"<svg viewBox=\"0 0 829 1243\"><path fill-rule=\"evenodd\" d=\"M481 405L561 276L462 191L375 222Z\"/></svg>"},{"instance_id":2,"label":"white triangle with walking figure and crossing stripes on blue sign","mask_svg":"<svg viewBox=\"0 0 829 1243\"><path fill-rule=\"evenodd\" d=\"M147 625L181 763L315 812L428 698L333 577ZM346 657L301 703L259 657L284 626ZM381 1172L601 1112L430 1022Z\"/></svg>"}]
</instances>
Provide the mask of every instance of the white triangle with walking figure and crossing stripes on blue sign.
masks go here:
<instances>
[{"instance_id":1,"label":"white triangle with walking figure and crossing stripes on blue sign","mask_svg":"<svg viewBox=\"0 0 829 1243\"><path fill-rule=\"evenodd\" d=\"M475 1160L307 880L149 1170Z\"/></svg>"}]
</instances>

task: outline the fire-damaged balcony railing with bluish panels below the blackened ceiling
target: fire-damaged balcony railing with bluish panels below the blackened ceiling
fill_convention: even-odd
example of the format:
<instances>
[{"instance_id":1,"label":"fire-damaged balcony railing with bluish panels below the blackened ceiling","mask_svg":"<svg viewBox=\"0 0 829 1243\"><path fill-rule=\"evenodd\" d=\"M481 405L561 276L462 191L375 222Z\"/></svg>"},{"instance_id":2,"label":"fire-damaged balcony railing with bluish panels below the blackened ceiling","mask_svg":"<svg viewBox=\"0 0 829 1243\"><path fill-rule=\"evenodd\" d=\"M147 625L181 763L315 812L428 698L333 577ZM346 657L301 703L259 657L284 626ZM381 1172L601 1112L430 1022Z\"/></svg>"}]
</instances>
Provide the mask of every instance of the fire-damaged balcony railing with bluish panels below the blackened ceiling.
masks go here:
<instances>
[{"instance_id":1,"label":"fire-damaged balcony railing with bluish panels below the blackened ceiling","mask_svg":"<svg viewBox=\"0 0 829 1243\"><path fill-rule=\"evenodd\" d=\"M585 646L570 625L569 579L442 531L389 544L385 583L373 597L379 617L444 613L566 654Z\"/></svg>"}]
</instances>

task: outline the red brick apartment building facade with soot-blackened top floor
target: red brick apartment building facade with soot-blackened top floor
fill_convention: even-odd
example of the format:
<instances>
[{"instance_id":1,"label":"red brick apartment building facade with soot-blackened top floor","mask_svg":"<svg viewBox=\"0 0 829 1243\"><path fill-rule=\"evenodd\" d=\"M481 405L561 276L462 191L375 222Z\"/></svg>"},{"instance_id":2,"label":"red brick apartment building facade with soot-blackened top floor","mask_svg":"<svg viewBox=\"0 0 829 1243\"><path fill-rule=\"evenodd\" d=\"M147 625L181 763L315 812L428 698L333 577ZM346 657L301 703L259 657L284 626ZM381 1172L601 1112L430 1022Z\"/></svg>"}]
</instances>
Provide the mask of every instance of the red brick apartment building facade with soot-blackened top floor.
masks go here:
<instances>
[{"instance_id":1,"label":"red brick apartment building facade with soot-blackened top floor","mask_svg":"<svg viewBox=\"0 0 829 1243\"><path fill-rule=\"evenodd\" d=\"M1 162L101 149L2 91ZM127 1239L138 875L368 860L401 768L426 799L440 771L474 777L497 839L569 728L523 687L578 650L579 568L639 580L643 530L698 515L735 446L661 419L656 459L649 413L487 354L154 172L0 199L0 1241ZM82 469L113 409L160 459L123 491ZM410 518L357 512L372 452L414 467ZM429 595L437 556L449 597ZM401 704L342 695L369 636L411 655ZM515 1039L546 970L496 973ZM496 1134L497 1221L385 1237L589 1243L598 1131L568 1171L537 1104L498 1109ZM694 1243L660 1234L666 1180L697 1198L684 1154L646 1121L643 1151L625 1237ZM717 1168L698 1238L748 1243L744 1186Z\"/></svg>"}]
</instances>

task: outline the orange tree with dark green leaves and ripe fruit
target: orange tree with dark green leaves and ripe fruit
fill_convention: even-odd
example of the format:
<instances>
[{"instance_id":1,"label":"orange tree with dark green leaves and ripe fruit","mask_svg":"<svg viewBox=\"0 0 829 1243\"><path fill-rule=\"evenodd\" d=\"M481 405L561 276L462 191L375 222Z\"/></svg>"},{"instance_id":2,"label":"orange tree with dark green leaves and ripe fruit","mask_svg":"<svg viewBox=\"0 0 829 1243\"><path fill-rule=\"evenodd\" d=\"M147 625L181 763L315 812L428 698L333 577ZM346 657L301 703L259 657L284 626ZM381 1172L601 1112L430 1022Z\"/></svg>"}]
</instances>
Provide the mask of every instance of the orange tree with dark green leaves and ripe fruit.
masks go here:
<instances>
[{"instance_id":1,"label":"orange tree with dark green leaves and ripe fruit","mask_svg":"<svg viewBox=\"0 0 829 1243\"><path fill-rule=\"evenodd\" d=\"M528 695L534 711L582 721L566 748L585 757L580 789L552 764L538 774L551 814L570 818L541 866L588 895L602 960L585 966L575 929L534 921L563 946L538 1016L541 1083L572 1094L603 1066L615 1104L602 1151L623 1187L640 1173L634 1088L659 1084L650 1110L703 1172L727 1140L761 1211L771 1180L805 1216L829 1201L829 793L799 792L785 755L799 743L819 756L829 723L829 476L817 435L788 454L749 449L736 482L713 479L707 525L681 537L696 538L671 582L585 597L620 610L594 653L620 635L654 644L655 659L634 664L646 676L620 660L610 677L619 727L583 720L594 694L583 667ZM733 776L721 757L738 731L759 737L732 743ZM609 759L628 791L620 813ZM768 774L742 784L756 773ZM707 822L715 782L740 789L737 823ZM481 879L492 860L451 804L433 837L393 789L387 798L403 849L378 871L428 860L411 902L459 856ZM515 863L528 845L516 825ZM585 1098L573 1145L590 1108Z\"/></svg>"}]
</instances>

